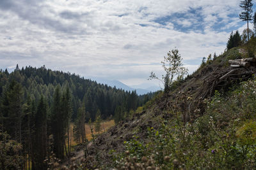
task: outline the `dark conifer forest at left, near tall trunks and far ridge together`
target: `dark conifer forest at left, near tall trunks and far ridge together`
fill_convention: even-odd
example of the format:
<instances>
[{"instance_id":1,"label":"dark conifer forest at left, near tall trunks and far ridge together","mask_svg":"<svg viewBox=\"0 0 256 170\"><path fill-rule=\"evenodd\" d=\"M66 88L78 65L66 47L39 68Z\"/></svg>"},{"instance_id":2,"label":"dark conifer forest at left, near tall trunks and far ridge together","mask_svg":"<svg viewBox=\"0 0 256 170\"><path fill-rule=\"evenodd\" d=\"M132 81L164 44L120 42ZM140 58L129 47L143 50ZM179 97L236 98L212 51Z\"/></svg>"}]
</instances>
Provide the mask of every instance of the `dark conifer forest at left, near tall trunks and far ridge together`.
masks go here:
<instances>
[{"instance_id":1,"label":"dark conifer forest at left, near tall trunks and far ridge together","mask_svg":"<svg viewBox=\"0 0 256 170\"><path fill-rule=\"evenodd\" d=\"M86 142L85 122L122 121L152 94L138 96L76 74L44 66L19 69L17 64L12 73L0 71L0 96L1 150L5 151L1 167L45 169L51 152L59 159L70 157L72 135L79 143Z\"/></svg>"}]
</instances>

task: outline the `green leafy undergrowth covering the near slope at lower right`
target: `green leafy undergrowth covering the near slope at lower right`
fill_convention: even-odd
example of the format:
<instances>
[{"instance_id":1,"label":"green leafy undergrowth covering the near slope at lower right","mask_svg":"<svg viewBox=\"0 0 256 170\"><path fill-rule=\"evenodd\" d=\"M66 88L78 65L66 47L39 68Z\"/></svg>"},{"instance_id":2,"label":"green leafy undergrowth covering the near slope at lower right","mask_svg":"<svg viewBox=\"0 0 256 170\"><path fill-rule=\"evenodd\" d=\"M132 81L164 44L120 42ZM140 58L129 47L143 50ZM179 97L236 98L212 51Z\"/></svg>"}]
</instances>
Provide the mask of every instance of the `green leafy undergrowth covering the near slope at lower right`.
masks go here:
<instances>
[{"instance_id":1,"label":"green leafy undergrowth covering the near slope at lower right","mask_svg":"<svg viewBox=\"0 0 256 170\"><path fill-rule=\"evenodd\" d=\"M125 141L127 155L116 157L116 167L145 165L143 159L152 158L160 169L255 169L256 79L227 94L216 91L204 103L204 115L194 122L184 124L172 110L177 117L159 120L158 129L148 127L147 139Z\"/></svg>"}]
</instances>

